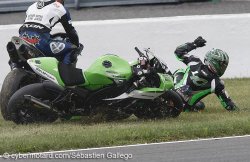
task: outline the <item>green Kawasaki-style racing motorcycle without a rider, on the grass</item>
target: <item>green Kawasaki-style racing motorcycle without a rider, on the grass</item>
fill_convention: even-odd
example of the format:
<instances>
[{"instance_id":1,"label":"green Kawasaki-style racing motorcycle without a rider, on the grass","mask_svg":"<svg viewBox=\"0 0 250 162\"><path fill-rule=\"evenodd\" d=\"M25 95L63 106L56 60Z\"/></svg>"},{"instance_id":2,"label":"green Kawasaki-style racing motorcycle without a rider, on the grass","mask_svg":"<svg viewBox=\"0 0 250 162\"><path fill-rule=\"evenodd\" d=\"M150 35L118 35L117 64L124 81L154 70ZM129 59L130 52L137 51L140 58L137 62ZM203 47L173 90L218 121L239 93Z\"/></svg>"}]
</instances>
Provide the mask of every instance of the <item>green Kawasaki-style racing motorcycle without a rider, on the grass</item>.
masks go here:
<instances>
[{"instance_id":1,"label":"green Kawasaki-style racing motorcycle without a rider, on the grass","mask_svg":"<svg viewBox=\"0 0 250 162\"><path fill-rule=\"evenodd\" d=\"M135 49L139 59L133 63L107 54L86 70L55 58L29 59L34 72L48 81L25 86L11 97L11 120L27 124L97 114L105 120L132 114L143 119L179 116L183 103L172 91L173 78L166 64L149 50L144 54Z\"/></svg>"}]
</instances>

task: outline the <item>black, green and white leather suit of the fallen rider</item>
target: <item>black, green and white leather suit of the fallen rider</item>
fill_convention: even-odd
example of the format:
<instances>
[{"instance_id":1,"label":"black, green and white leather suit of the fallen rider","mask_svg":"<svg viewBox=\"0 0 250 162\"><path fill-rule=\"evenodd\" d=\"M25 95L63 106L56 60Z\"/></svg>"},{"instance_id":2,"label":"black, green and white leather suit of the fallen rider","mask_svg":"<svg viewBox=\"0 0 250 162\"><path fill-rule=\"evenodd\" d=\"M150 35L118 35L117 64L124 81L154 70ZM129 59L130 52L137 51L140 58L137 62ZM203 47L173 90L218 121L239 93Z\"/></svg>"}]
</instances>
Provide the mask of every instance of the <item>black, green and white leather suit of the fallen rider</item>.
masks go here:
<instances>
[{"instance_id":1,"label":"black, green and white leather suit of the fallen rider","mask_svg":"<svg viewBox=\"0 0 250 162\"><path fill-rule=\"evenodd\" d=\"M177 58L188 66L186 70L182 69L174 74L175 89L186 106L192 107L208 94L215 93L225 109L236 110L237 107L225 91L224 82L198 57L189 54L194 49L196 49L194 43L186 43L175 50ZM182 73L181 78L179 78L180 73Z\"/></svg>"}]
</instances>

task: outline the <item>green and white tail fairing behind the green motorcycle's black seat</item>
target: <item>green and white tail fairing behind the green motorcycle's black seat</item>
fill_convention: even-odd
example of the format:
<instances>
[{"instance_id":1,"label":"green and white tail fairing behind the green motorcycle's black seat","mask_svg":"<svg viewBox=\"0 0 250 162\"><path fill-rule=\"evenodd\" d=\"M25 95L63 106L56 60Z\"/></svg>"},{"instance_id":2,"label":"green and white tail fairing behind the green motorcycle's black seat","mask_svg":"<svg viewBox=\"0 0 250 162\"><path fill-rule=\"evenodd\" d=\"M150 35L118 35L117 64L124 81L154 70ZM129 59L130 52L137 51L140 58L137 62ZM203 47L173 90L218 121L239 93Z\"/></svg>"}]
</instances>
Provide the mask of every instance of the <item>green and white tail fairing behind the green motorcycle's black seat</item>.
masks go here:
<instances>
[{"instance_id":1,"label":"green and white tail fairing behind the green motorcycle's black seat","mask_svg":"<svg viewBox=\"0 0 250 162\"><path fill-rule=\"evenodd\" d=\"M65 86L59 71L58 71L58 61L53 57L40 57L28 60L29 64L34 65L36 71L43 74L47 79L57 83L60 86ZM46 73L45 73L46 72Z\"/></svg>"}]
</instances>

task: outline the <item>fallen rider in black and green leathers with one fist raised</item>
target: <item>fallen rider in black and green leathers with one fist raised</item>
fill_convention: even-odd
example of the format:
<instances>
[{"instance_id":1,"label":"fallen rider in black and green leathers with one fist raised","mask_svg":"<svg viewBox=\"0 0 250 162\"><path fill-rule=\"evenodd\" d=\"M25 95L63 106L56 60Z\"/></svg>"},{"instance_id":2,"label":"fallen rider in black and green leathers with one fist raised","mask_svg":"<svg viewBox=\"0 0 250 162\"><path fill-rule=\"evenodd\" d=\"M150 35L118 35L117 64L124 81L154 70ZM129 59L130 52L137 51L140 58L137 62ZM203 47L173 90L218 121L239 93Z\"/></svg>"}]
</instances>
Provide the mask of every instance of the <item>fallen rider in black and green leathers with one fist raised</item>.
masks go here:
<instances>
[{"instance_id":1,"label":"fallen rider in black and green leathers with one fist raised","mask_svg":"<svg viewBox=\"0 0 250 162\"><path fill-rule=\"evenodd\" d=\"M205 46L206 40L198 37L194 42L185 43L175 50L176 57L188 67L174 73L176 92L182 97L185 111L199 111L204 108L200 101L208 94L215 93L228 111L239 110L228 96L220 77L224 74L229 57L220 49L208 51L204 63L189 52Z\"/></svg>"}]
</instances>

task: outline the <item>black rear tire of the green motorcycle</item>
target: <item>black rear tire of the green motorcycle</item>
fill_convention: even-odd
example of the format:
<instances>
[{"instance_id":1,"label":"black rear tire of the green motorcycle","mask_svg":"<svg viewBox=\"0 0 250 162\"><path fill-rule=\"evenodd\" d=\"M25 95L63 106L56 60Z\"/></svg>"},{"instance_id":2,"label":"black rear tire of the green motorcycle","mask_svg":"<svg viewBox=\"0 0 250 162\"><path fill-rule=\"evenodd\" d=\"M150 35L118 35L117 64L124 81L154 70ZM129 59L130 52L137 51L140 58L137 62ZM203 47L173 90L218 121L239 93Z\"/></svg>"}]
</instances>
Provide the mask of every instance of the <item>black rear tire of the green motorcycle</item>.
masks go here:
<instances>
[{"instance_id":1,"label":"black rear tire of the green motorcycle","mask_svg":"<svg viewBox=\"0 0 250 162\"><path fill-rule=\"evenodd\" d=\"M31 95L44 102L56 98L55 94L49 93L42 83L35 83L21 88L10 98L8 104L7 111L13 122L16 124L52 123L58 119L55 112L36 107L33 102L27 101L24 95Z\"/></svg>"}]
</instances>

